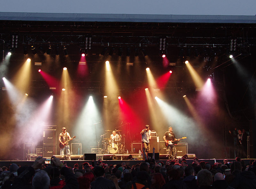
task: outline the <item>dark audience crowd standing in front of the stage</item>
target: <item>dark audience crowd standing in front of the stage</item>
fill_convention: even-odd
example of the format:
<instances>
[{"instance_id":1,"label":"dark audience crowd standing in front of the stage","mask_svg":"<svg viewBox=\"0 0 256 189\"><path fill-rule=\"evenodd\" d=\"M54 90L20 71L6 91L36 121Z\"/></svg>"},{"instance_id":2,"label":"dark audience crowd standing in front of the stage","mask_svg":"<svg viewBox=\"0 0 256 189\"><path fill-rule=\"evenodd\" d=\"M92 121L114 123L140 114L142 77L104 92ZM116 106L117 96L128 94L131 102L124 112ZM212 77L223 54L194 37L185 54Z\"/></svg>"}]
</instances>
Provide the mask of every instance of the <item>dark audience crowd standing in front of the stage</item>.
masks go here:
<instances>
[{"instance_id":1,"label":"dark audience crowd standing in front of the stage","mask_svg":"<svg viewBox=\"0 0 256 189\"><path fill-rule=\"evenodd\" d=\"M187 165L186 159L156 162L147 159L131 167L108 165L102 161L92 165L76 163L73 168L52 157L44 164L38 157L32 166L20 167L12 163L0 168L2 189L249 189L256 188L256 161L245 165L236 158L222 163L198 161ZM111 161L109 161L111 162Z\"/></svg>"}]
</instances>

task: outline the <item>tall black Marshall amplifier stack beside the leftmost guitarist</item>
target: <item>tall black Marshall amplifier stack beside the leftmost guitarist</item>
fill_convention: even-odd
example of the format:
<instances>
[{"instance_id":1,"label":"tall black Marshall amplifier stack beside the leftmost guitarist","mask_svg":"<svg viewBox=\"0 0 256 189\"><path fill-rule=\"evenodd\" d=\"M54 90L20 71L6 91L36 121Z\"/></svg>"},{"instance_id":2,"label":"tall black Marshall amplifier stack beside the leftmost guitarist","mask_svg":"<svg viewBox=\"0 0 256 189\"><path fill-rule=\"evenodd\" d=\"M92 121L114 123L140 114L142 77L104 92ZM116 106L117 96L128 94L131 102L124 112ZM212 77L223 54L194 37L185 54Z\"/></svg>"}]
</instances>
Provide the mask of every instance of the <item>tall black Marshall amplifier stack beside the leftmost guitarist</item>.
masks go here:
<instances>
[{"instance_id":1,"label":"tall black Marshall amplifier stack beside the leftmost guitarist","mask_svg":"<svg viewBox=\"0 0 256 189\"><path fill-rule=\"evenodd\" d=\"M45 125L43 131L43 157L56 155L56 125Z\"/></svg>"}]
</instances>

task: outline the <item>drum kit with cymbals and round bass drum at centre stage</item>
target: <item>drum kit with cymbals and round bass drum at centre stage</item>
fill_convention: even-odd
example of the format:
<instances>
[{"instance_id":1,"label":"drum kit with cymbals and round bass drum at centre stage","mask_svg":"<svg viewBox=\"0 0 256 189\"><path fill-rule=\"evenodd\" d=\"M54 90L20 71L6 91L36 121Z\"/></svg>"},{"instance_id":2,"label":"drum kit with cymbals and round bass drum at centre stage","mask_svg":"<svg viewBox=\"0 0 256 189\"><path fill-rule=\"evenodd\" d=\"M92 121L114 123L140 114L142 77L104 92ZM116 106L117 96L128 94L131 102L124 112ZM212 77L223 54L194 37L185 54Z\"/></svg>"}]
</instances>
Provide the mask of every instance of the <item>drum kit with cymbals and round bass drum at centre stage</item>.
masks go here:
<instances>
[{"instance_id":1,"label":"drum kit with cymbals and round bass drum at centre stage","mask_svg":"<svg viewBox=\"0 0 256 189\"><path fill-rule=\"evenodd\" d=\"M107 132L112 132L112 130L105 130ZM109 154L124 154L126 153L127 149L124 145L124 135L122 136L120 134L120 131L122 130L116 130L116 132L118 133L117 136L119 136L119 138L103 138L102 140L102 145L103 145L103 149L102 149L102 153L109 153ZM106 133L107 134L107 133ZM104 134L105 135L105 134ZM101 136L104 136L101 135Z\"/></svg>"}]
</instances>

